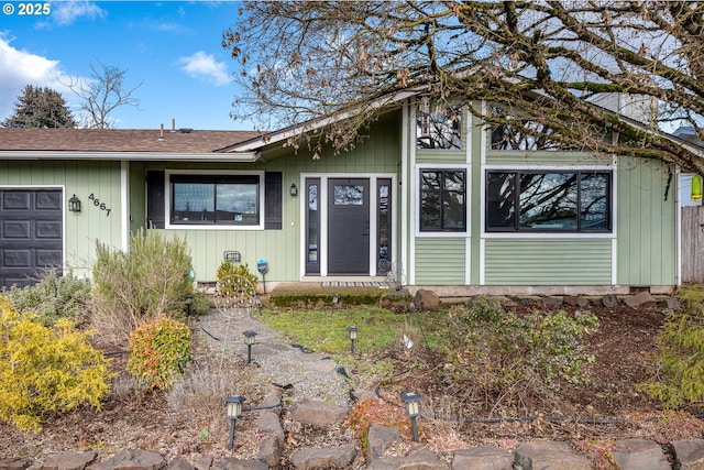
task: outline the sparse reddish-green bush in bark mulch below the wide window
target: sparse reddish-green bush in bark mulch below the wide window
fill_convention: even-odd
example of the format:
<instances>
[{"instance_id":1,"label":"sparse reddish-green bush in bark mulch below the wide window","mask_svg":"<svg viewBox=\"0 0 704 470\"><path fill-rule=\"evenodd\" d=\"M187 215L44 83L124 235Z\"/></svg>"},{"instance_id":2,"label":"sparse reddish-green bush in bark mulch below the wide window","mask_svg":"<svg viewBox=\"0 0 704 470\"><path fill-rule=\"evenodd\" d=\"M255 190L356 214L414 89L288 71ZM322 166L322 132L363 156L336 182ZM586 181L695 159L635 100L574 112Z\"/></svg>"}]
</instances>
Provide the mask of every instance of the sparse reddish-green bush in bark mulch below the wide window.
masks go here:
<instances>
[{"instance_id":1,"label":"sparse reddish-green bush in bark mulch below the wide window","mask_svg":"<svg viewBox=\"0 0 704 470\"><path fill-rule=\"evenodd\" d=\"M470 381L484 396L546 395L557 386L556 378L583 383L584 365L594 361L581 345L597 328L594 315L534 311L522 318L504 311L495 298L480 297L452 307L448 321L451 379Z\"/></svg>"}]
</instances>

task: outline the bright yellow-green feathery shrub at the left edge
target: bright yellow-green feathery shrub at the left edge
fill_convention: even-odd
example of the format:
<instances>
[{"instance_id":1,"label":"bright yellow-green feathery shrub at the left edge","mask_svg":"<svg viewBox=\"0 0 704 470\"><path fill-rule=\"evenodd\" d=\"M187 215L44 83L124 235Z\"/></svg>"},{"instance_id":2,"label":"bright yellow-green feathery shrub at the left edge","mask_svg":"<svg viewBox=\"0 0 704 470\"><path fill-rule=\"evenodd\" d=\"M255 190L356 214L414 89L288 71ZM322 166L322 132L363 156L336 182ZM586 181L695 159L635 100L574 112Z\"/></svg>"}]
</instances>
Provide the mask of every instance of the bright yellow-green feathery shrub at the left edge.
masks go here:
<instances>
[{"instance_id":1,"label":"bright yellow-green feathery shrub at the left edge","mask_svg":"<svg viewBox=\"0 0 704 470\"><path fill-rule=\"evenodd\" d=\"M100 408L113 374L65 318L53 327L33 314L19 314L0 297L0 418L23 430L38 430L46 417L82 404Z\"/></svg>"}]
</instances>

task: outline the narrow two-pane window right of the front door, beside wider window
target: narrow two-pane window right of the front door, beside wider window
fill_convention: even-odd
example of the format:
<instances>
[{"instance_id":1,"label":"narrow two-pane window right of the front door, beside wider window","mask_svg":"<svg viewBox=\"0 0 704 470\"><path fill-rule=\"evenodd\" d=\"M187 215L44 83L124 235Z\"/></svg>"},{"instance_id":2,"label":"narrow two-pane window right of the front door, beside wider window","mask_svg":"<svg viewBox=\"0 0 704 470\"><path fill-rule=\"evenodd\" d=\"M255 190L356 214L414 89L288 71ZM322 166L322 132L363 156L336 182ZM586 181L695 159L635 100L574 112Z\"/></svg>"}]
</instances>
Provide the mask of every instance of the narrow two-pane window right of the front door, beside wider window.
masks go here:
<instances>
[{"instance_id":1,"label":"narrow two-pane window right of the front door, beside wider window","mask_svg":"<svg viewBox=\"0 0 704 470\"><path fill-rule=\"evenodd\" d=\"M466 231L464 170L420 172L420 231Z\"/></svg>"}]
</instances>

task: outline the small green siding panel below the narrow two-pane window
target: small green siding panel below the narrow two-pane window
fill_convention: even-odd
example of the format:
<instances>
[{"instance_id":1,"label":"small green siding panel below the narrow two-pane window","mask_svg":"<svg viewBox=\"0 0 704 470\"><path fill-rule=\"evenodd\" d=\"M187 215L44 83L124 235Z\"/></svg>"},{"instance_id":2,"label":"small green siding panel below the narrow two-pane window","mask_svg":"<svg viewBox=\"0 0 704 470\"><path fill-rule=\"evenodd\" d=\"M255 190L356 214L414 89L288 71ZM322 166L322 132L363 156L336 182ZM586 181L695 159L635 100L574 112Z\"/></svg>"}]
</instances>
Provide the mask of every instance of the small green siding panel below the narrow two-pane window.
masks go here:
<instances>
[{"instance_id":1,"label":"small green siding panel below the narrow two-pane window","mask_svg":"<svg viewBox=\"0 0 704 470\"><path fill-rule=\"evenodd\" d=\"M464 285L465 260L464 238L417 238L416 284Z\"/></svg>"}]
</instances>

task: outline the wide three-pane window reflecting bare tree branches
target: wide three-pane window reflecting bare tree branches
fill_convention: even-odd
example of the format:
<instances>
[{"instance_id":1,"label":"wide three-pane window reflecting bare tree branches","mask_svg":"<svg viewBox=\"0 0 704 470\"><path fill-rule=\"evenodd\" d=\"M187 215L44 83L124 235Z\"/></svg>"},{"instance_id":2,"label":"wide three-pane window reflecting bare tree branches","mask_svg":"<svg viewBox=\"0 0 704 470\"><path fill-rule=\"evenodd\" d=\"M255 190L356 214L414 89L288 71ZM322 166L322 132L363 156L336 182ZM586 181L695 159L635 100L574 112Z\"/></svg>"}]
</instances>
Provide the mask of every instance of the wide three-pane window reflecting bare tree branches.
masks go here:
<instances>
[{"instance_id":1,"label":"wide three-pane window reflecting bare tree branches","mask_svg":"<svg viewBox=\"0 0 704 470\"><path fill-rule=\"evenodd\" d=\"M610 172L486 173L486 231L609 232Z\"/></svg>"}]
</instances>

